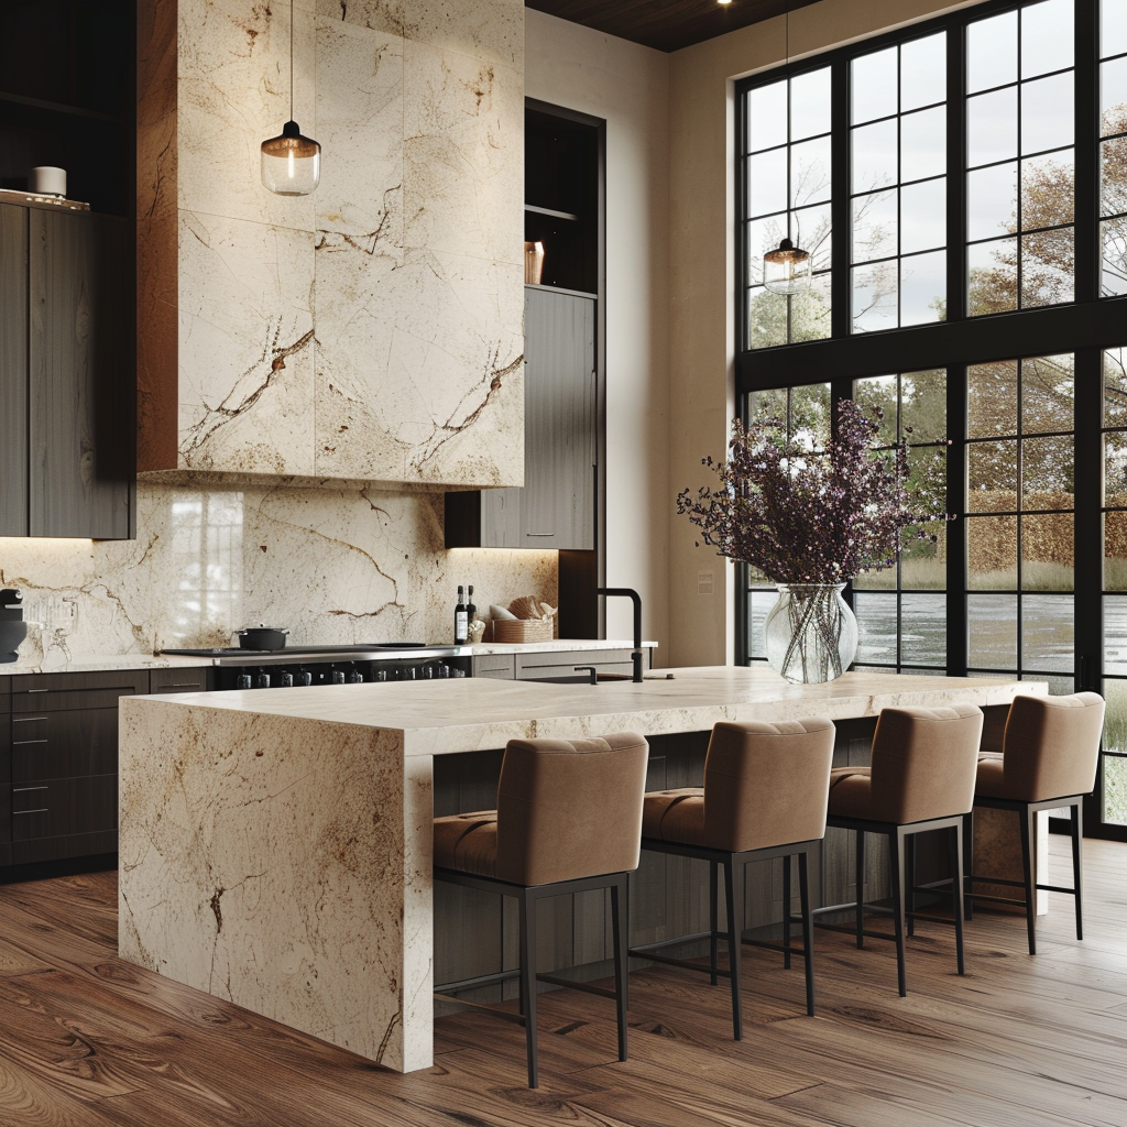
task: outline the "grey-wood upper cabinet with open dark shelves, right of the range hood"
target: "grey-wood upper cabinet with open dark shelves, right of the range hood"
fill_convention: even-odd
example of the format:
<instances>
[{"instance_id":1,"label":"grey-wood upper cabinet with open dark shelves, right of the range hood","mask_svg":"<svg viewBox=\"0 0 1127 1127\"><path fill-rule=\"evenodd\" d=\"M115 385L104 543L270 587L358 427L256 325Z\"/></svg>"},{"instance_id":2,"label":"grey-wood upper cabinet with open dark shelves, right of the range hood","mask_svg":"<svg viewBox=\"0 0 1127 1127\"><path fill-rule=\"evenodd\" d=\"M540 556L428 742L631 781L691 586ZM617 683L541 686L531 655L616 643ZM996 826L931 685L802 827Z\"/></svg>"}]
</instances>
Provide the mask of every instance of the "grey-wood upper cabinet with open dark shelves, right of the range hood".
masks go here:
<instances>
[{"instance_id":1,"label":"grey-wood upper cabinet with open dark shelves, right of the range hood","mask_svg":"<svg viewBox=\"0 0 1127 1127\"><path fill-rule=\"evenodd\" d=\"M525 110L524 486L447 494L447 548L596 545L601 142L593 119Z\"/></svg>"}]
</instances>

